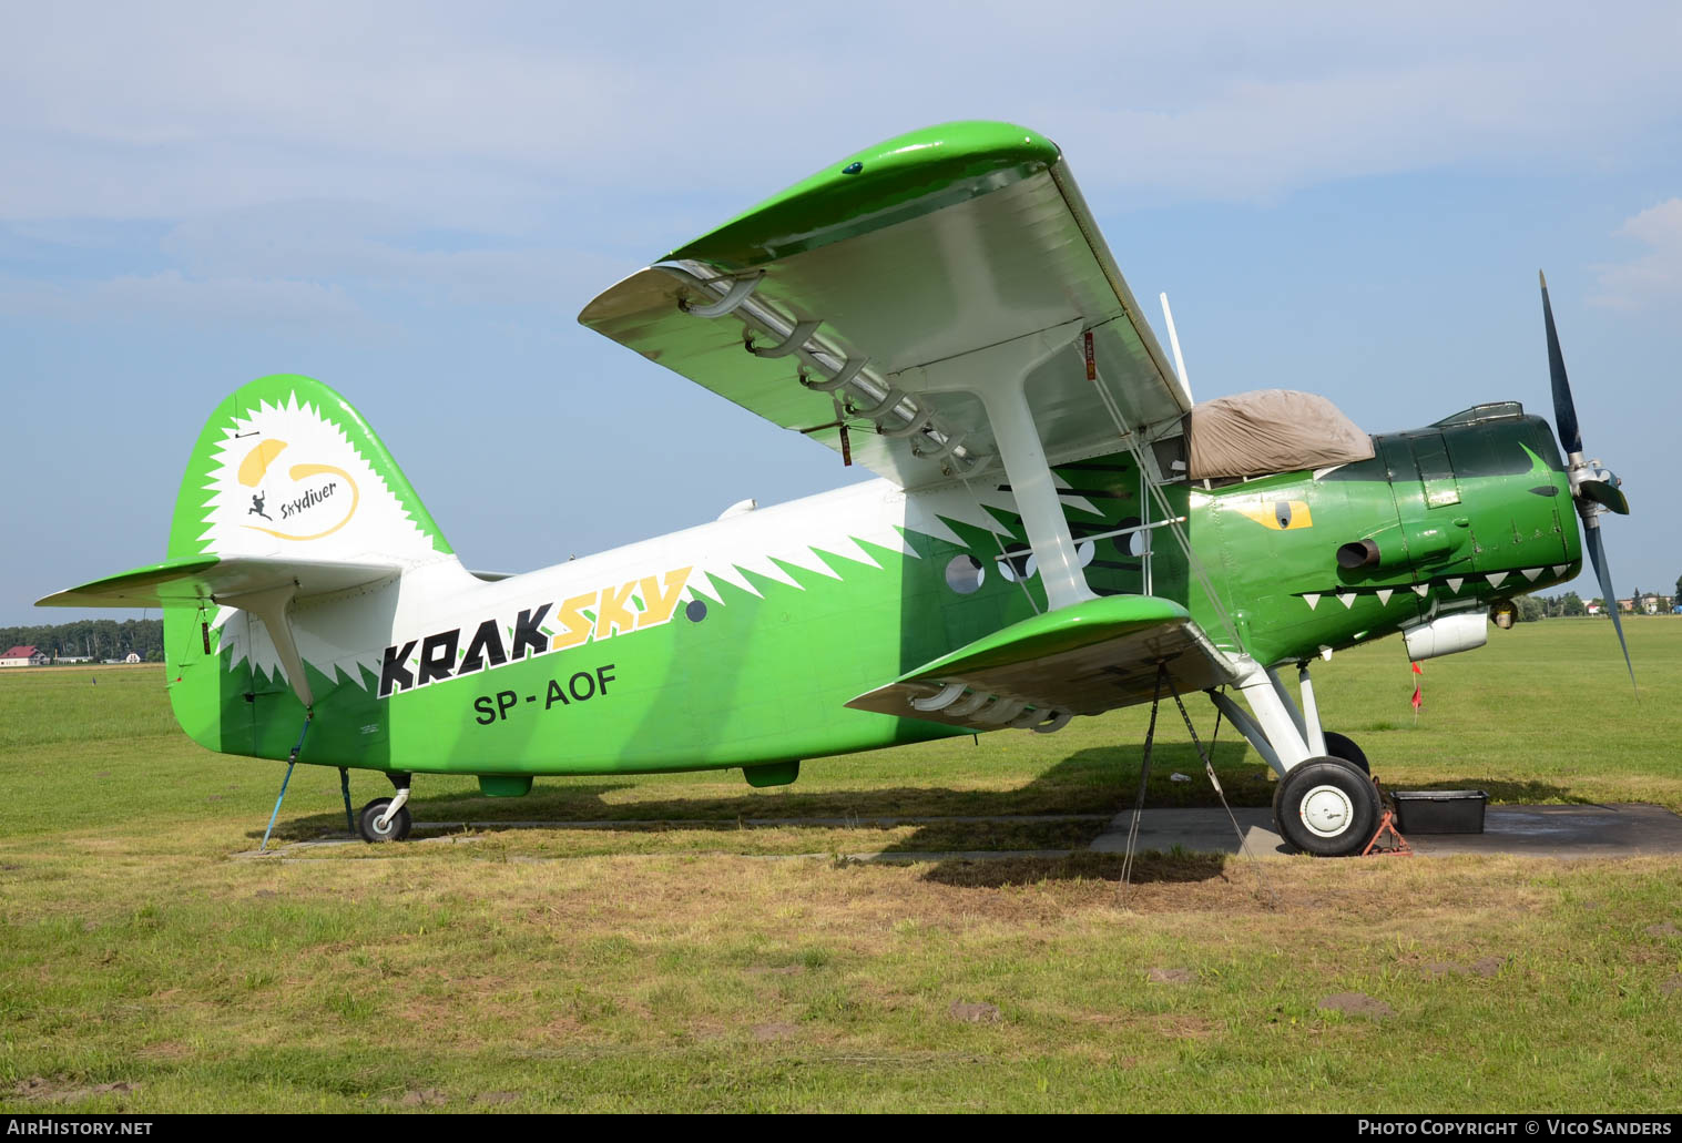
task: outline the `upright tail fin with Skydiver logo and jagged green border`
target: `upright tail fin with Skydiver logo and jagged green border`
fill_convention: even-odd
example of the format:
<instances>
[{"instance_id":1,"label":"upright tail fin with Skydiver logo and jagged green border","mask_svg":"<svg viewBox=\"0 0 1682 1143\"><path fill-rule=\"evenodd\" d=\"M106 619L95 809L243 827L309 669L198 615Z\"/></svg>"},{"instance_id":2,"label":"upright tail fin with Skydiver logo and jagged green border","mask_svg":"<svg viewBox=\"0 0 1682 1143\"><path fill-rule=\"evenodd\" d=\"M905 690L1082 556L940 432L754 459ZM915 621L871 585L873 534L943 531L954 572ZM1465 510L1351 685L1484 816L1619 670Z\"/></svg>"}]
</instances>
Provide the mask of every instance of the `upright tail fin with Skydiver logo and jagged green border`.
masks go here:
<instances>
[{"instance_id":1,"label":"upright tail fin with Skydiver logo and jagged green border","mask_svg":"<svg viewBox=\"0 0 1682 1143\"><path fill-rule=\"evenodd\" d=\"M168 556L200 555L414 566L451 548L362 413L278 373L241 385L198 434Z\"/></svg>"}]
</instances>

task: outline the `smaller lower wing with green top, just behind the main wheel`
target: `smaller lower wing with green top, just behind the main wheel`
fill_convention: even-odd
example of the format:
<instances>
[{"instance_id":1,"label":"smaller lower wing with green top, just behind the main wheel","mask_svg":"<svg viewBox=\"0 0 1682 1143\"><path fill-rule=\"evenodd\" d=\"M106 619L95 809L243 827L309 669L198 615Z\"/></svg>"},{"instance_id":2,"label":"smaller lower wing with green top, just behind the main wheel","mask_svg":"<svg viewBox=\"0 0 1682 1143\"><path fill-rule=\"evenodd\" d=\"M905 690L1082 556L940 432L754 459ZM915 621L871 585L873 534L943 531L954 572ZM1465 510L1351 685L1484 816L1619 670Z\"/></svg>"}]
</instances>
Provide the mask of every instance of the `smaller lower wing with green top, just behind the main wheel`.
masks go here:
<instances>
[{"instance_id":1,"label":"smaller lower wing with green top, just behind the main wheel","mask_svg":"<svg viewBox=\"0 0 1682 1143\"><path fill-rule=\"evenodd\" d=\"M1179 603L1112 595L1011 624L848 706L976 731L1051 730L1150 701L1159 664L1181 694L1236 677Z\"/></svg>"}]
</instances>

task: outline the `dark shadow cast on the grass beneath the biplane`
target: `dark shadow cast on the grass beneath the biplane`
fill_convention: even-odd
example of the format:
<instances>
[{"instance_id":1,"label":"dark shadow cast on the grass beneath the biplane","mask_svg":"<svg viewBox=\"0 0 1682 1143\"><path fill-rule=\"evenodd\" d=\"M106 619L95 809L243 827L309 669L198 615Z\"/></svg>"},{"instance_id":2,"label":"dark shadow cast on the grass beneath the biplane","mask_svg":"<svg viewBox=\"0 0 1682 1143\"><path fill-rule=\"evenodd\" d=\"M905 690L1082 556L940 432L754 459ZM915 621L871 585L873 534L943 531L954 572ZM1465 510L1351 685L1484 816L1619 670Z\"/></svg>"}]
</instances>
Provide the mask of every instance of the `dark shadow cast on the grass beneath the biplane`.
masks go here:
<instances>
[{"instance_id":1,"label":"dark shadow cast on the grass beneath the biplane","mask_svg":"<svg viewBox=\"0 0 1682 1143\"><path fill-rule=\"evenodd\" d=\"M1238 807L1270 807L1273 780L1267 766L1241 741L1216 743L1214 772L1226 802ZM811 763L809 763L811 765ZM822 760L809 773L821 775ZM733 797L693 797L673 792L669 798L616 802L609 797L636 788L637 782L565 783L537 787L518 800L491 800L476 793L439 793L409 802L417 825L427 822L471 822L474 830L528 829L565 830L579 822L611 829L624 822L627 832L676 834L705 830L737 834L752 829L871 829L905 819L949 819L917 822L908 835L870 847L895 861L903 854L959 851L1075 851L1071 857L1024 856L1016 859L940 859L928 866L928 881L967 888L1001 888L1045 879L1110 879L1122 876L1119 854L1080 852L1110 827L1110 819L1129 810L1139 797L1140 751L1137 746L1080 750L1058 760L1033 782L1013 790L954 790L947 787L881 787L865 790L802 792L799 785L772 795L743 790ZM1176 782L1174 775L1191 778ZM1383 777L1383 770L1381 770ZM1593 805L1563 787L1536 780L1443 778L1410 783L1415 788L1485 790L1490 802L1564 802ZM363 792L362 797L367 797ZM1203 761L1191 743L1157 743L1150 761L1145 809L1218 807L1221 802L1203 773ZM1090 815L1071 819L1070 815ZM1061 820L1036 822L1034 817ZM962 822L950 819L996 819ZM506 825L505 825L506 824ZM520 824L520 825L515 825ZM1008 830L1001 837L1001 830ZM296 842L343 837L341 812L308 814L276 824L274 840ZM247 832L261 839L262 829ZM720 839L720 847L728 844ZM674 851L678 852L678 851ZM1144 861L1134 881L1208 881L1221 876L1226 859L1219 854L1174 854L1171 861Z\"/></svg>"}]
</instances>

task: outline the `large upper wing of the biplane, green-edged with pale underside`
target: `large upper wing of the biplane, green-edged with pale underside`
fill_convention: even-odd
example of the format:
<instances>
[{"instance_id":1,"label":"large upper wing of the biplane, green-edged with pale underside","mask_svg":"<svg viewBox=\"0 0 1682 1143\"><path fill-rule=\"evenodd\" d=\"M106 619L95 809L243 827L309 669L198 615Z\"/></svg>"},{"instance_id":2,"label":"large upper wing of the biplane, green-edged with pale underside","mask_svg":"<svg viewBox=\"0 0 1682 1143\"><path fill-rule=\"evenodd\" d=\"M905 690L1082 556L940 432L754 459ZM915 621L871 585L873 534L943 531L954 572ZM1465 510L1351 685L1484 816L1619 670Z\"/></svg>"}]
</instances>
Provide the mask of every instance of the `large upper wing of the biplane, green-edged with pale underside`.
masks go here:
<instances>
[{"instance_id":1,"label":"large upper wing of the biplane, green-edged with pale underside","mask_svg":"<svg viewBox=\"0 0 1682 1143\"><path fill-rule=\"evenodd\" d=\"M1092 334L1095 380L1076 338L1028 382L1051 464L1115 447L1110 403L1147 435L1191 408L1060 151L1002 123L836 163L612 286L579 321L833 449L848 422L851 454L902 487L996 454L981 402L920 393L917 366L1013 338L1076 321Z\"/></svg>"}]
</instances>

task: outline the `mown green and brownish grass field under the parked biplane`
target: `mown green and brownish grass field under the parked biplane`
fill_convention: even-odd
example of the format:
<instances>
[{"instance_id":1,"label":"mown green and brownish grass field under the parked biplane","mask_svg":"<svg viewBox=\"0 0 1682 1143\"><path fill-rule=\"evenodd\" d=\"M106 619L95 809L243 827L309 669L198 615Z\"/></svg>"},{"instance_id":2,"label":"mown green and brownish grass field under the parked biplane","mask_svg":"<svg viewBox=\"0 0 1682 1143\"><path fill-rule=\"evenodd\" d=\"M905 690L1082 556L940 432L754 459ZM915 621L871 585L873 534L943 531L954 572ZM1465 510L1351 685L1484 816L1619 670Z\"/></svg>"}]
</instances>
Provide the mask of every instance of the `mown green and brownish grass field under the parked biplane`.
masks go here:
<instances>
[{"instance_id":1,"label":"mown green and brownish grass field under the parked biplane","mask_svg":"<svg viewBox=\"0 0 1682 1143\"><path fill-rule=\"evenodd\" d=\"M1640 703L1606 624L1547 620L1425 664L1418 726L1394 640L1320 666L1320 706L1391 787L1682 810L1682 622L1626 627ZM193 746L158 669L0 674L0 1108L1682 1103L1682 856L1270 857L1262 891L1250 862L1174 854L1125 893L1097 854L836 857L1080 849L1100 820L876 819L1110 814L1144 723L814 760L782 790L491 802L420 777L419 822L553 825L254 861L283 765ZM1216 760L1233 800L1270 800L1230 728ZM387 792L353 777L358 809ZM1211 797L1167 708L1150 800ZM276 835L343 829L336 772L301 766Z\"/></svg>"}]
</instances>

